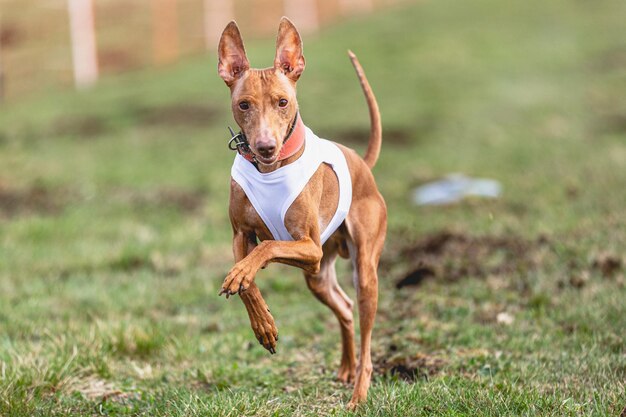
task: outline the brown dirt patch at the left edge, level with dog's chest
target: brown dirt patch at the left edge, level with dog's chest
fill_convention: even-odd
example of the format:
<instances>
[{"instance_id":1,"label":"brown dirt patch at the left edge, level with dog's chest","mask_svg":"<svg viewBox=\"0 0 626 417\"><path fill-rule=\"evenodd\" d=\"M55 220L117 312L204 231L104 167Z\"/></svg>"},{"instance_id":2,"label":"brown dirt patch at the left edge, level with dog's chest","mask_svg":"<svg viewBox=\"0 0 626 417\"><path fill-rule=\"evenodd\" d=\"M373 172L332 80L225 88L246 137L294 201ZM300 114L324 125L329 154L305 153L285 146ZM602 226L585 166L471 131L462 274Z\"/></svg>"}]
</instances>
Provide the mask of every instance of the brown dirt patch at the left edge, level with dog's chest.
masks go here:
<instances>
[{"instance_id":1,"label":"brown dirt patch at the left edge, level with dog's chest","mask_svg":"<svg viewBox=\"0 0 626 417\"><path fill-rule=\"evenodd\" d=\"M41 185L10 188L0 183L0 217L56 214L65 206L66 195Z\"/></svg>"}]
</instances>

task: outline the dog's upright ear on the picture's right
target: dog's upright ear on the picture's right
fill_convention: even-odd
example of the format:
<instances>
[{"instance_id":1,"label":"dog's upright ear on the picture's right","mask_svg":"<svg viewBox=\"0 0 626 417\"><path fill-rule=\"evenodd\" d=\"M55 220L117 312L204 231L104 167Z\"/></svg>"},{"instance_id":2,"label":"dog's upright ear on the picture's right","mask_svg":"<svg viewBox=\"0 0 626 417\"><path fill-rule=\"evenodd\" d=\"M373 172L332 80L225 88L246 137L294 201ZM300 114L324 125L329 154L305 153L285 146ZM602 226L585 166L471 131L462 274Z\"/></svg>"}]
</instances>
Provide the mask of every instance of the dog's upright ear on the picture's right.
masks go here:
<instances>
[{"instance_id":1,"label":"dog's upright ear on the picture's right","mask_svg":"<svg viewBox=\"0 0 626 417\"><path fill-rule=\"evenodd\" d=\"M283 17L278 26L276 38L276 58L274 68L282 71L293 81L298 81L304 71L304 56L302 55L302 39L291 20Z\"/></svg>"}]
</instances>

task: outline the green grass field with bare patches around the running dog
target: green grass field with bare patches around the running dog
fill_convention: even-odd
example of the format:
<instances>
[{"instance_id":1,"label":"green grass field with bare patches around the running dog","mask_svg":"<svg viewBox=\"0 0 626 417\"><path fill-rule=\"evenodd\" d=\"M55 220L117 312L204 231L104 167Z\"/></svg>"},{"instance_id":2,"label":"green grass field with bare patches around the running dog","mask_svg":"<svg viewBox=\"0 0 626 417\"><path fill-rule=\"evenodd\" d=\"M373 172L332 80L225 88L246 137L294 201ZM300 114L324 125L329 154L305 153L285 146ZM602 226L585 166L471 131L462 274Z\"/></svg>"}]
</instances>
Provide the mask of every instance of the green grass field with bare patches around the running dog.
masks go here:
<instances>
[{"instance_id":1,"label":"green grass field with bare patches around the running dog","mask_svg":"<svg viewBox=\"0 0 626 417\"><path fill-rule=\"evenodd\" d=\"M358 415L622 413L625 16L618 0L441 0L305 38L305 122L364 149L351 48L386 132L389 235ZM273 40L247 47L271 63ZM0 415L349 414L338 325L299 271L256 279L274 356L243 304L217 296L232 265L228 124L212 56L0 109ZM503 195L411 204L450 172ZM396 288L416 268L419 285Z\"/></svg>"}]
</instances>

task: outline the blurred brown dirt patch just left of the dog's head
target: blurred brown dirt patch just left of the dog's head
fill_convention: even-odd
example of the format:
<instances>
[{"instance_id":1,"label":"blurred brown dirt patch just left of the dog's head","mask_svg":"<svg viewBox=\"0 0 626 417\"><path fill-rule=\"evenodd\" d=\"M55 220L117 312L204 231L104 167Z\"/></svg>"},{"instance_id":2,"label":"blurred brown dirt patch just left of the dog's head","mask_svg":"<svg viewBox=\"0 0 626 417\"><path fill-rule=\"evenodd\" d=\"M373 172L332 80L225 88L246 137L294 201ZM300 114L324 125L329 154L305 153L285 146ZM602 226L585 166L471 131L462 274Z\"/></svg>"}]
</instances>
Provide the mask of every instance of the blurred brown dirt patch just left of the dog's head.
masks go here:
<instances>
[{"instance_id":1,"label":"blurred brown dirt patch just left of the dog's head","mask_svg":"<svg viewBox=\"0 0 626 417\"><path fill-rule=\"evenodd\" d=\"M137 110L139 119L144 125L176 125L202 127L215 122L220 112L216 108L199 104L172 104L155 108Z\"/></svg>"}]
</instances>

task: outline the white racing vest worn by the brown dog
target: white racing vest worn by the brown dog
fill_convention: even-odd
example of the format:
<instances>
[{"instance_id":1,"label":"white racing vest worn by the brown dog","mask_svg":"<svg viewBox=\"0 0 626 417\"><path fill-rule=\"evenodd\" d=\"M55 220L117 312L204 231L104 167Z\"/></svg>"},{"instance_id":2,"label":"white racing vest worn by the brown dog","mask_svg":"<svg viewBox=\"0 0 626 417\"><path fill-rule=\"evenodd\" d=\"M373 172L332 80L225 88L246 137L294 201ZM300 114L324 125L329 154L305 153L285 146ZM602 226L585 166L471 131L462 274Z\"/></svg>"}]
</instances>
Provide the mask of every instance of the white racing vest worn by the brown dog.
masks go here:
<instances>
[{"instance_id":1,"label":"white racing vest worn by the brown dog","mask_svg":"<svg viewBox=\"0 0 626 417\"><path fill-rule=\"evenodd\" d=\"M337 211L320 235L321 243L324 244L345 220L352 202L350 170L337 145L318 138L307 127L304 152L296 161L262 174L237 154L230 174L246 193L274 240L293 240L285 227L285 214L322 163L330 165L339 180Z\"/></svg>"}]
</instances>

